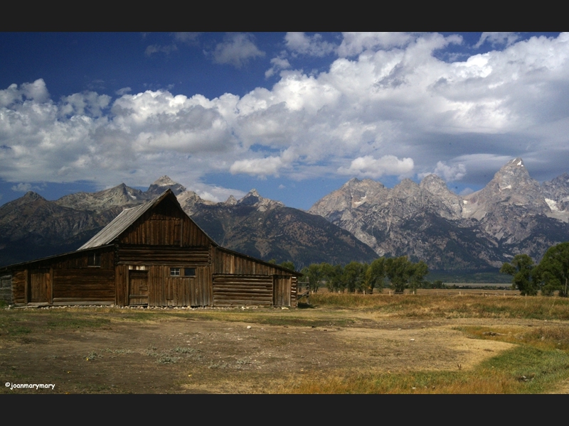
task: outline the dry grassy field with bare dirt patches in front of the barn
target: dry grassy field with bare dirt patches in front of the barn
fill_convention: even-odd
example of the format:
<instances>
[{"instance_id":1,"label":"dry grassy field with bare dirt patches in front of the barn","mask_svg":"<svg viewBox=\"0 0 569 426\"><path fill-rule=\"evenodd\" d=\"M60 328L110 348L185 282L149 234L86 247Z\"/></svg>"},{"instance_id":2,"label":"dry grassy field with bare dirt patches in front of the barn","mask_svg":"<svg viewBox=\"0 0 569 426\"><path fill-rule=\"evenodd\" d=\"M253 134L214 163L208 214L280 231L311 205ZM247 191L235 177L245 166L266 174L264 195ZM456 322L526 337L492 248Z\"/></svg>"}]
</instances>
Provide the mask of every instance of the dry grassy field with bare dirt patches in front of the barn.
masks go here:
<instances>
[{"instance_id":1,"label":"dry grassy field with bare dirt patches in front of the barn","mask_svg":"<svg viewBox=\"0 0 569 426\"><path fill-rule=\"evenodd\" d=\"M569 300L317 293L299 309L0 309L43 393L568 393ZM40 393L1 388L0 393Z\"/></svg>"}]
</instances>

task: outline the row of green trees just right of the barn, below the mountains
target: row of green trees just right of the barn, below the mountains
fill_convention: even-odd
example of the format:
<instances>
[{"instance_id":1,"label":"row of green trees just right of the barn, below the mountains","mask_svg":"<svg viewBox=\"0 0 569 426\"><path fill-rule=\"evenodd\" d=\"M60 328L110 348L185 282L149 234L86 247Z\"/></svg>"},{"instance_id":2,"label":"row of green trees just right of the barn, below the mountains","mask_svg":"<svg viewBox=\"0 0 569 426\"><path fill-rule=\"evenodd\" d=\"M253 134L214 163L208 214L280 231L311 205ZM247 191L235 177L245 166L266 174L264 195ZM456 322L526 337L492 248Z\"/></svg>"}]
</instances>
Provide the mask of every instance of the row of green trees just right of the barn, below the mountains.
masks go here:
<instances>
[{"instance_id":1,"label":"row of green trees just right of the barn, below the mountains","mask_svg":"<svg viewBox=\"0 0 569 426\"><path fill-rule=\"evenodd\" d=\"M286 268L294 269L292 262L281 264ZM308 289L317 292L326 285L333 292L349 293L373 293L374 290L381 292L388 285L395 293L403 293L405 288L417 290L422 287L440 285L425 281L425 275L429 273L427 263L418 261L411 262L407 256L398 258L377 258L371 263L350 262L346 266L331 265L329 263L312 263L300 271L304 279L308 281Z\"/></svg>"}]
</instances>

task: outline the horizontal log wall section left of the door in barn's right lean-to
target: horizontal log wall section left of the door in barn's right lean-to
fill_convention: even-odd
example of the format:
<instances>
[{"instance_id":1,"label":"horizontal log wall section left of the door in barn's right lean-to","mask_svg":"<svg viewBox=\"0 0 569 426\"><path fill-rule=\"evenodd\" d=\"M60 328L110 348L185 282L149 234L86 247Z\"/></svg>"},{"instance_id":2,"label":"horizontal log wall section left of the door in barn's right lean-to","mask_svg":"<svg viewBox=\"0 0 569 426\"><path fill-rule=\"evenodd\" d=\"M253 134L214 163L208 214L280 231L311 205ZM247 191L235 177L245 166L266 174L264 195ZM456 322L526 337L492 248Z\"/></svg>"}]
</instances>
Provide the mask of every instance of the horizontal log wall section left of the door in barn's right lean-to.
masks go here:
<instances>
[{"instance_id":1,"label":"horizontal log wall section left of the door in barn's right lean-to","mask_svg":"<svg viewBox=\"0 0 569 426\"><path fill-rule=\"evenodd\" d=\"M272 280L272 275L213 275L213 306L270 306Z\"/></svg>"}]
</instances>

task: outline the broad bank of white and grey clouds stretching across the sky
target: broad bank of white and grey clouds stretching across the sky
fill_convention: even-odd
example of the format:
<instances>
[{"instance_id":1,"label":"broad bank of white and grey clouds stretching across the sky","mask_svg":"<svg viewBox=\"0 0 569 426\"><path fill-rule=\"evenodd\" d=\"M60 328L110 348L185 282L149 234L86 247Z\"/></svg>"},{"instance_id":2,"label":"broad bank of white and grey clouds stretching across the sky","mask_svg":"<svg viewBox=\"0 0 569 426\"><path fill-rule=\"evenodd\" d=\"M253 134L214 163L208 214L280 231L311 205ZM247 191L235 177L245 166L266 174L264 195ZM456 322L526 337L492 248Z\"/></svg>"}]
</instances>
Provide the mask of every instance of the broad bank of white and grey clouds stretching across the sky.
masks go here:
<instances>
[{"instance_id":1,"label":"broad bank of white and grey clouds stretching across the sky","mask_svg":"<svg viewBox=\"0 0 569 426\"><path fill-rule=\"evenodd\" d=\"M297 55L322 41L298 40ZM294 69L289 50L271 61L280 72L272 87L214 99L125 88L115 99L92 91L54 102L43 80L11 84L0 89L0 177L144 186L172 169L184 182L208 173L312 179L433 170L474 186L517 156L532 174L551 173L551 164L567 171L569 35L454 62L435 55L461 40L344 35L324 72ZM243 34L212 53L234 66L260 55Z\"/></svg>"}]
</instances>

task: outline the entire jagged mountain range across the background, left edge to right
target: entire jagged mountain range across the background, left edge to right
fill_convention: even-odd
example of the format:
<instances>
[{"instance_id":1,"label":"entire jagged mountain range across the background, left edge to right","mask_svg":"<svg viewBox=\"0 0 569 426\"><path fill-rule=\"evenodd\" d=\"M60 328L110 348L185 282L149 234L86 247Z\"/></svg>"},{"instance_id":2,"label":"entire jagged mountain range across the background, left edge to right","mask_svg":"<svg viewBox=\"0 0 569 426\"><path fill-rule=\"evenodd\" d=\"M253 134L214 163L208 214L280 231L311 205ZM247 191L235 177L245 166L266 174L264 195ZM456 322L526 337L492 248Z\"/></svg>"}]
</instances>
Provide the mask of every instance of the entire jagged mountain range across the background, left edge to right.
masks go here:
<instances>
[{"instance_id":1,"label":"entire jagged mountain range across the background, left edge to right","mask_svg":"<svg viewBox=\"0 0 569 426\"><path fill-rule=\"evenodd\" d=\"M517 253L538 260L549 246L569 241L569 175L540 185L515 158L469 195L454 194L437 175L391 189L353 178L309 212L256 190L210 202L167 176L147 191L123 183L55 201L28 192L0 207L0 266L73 251L122 209L167 188L221 246L297 268L405 255L437 271L495 271Z\"/></svg>"}]
</instances>

